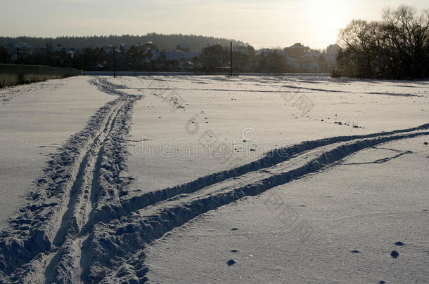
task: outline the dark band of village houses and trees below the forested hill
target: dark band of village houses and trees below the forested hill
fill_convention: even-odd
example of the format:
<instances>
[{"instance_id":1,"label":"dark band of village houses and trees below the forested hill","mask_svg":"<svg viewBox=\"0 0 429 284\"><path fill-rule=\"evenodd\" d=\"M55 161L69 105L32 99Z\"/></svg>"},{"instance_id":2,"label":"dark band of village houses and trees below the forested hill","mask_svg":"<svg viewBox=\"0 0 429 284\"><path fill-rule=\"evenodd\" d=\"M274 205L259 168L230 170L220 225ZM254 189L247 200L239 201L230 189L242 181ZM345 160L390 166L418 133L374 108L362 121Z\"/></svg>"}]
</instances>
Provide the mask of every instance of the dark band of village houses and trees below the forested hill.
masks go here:
<instances>
[{"instance_id":1,"label":"dark band of village houses and trees below the forested hill","mask_svg":"<svg viewBox=\"0 0 429 284\"><path fill-rule=\"evenodd\" d=\"M219 73L229 72L230 51L229 46L214 44L203 48L199 55L193 58L168 60L165 54L155 48L148 52L139 46L131 46L128 50L120 47L116 50L114 64L113 48L83 48L70 52L68 48L56 48L51 43L47 43L41 50L34 51L32 54L20 55L15 59L11 58L10 51L8 52L4 46L0 46L0 63L72 67L85 71L111 71L115 67L122 71ZM154 60L152 55L155 53L160 53L160 55ZM241 50L233 50L232 55L233 72L240 73L331 72L333 68L328 65L322 53L318 59L314 59L313 63L316 64L316 67L314 64L311 67L305 62L300 67L291 64L286 60L283 50L260 52L252 46L241 46ZM189 62L191 68L188 68Z\"/></svg>"}]
</instances>

